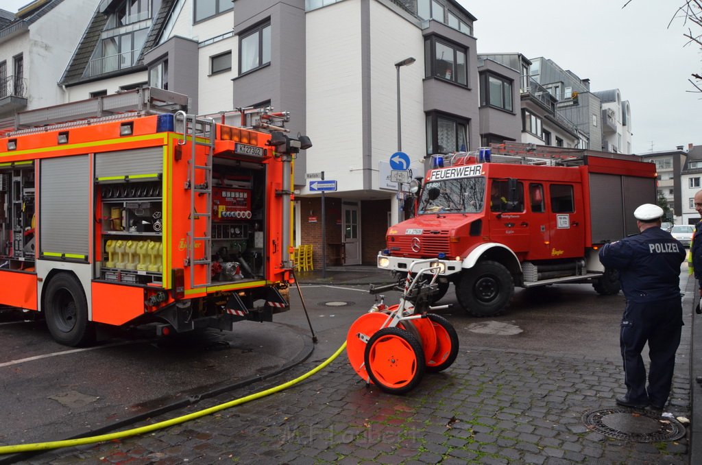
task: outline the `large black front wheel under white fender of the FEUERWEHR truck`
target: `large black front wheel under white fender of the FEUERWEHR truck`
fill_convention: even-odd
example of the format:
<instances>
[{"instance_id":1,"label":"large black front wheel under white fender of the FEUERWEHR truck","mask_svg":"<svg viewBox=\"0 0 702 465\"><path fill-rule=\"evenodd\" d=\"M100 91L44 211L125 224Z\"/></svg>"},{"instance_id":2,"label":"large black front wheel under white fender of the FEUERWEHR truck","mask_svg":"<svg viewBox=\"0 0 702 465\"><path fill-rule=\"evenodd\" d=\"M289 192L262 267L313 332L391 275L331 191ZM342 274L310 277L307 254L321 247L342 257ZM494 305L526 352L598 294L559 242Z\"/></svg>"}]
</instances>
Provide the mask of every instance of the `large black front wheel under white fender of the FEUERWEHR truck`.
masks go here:
<instances>
[{"instance_id":1,"label":"large black front wheel under white fender of the FEUERWEHR truck","mask_svg":"<svg viewBox=\"0 0 702 465\"><path fill-rule=\"evenodd\" d=\"M456 286L456 299L469 315L491 317L510 305L515 284L510 271L496 261L481 261L463 270Z\"/></svg>"}]
</instances>

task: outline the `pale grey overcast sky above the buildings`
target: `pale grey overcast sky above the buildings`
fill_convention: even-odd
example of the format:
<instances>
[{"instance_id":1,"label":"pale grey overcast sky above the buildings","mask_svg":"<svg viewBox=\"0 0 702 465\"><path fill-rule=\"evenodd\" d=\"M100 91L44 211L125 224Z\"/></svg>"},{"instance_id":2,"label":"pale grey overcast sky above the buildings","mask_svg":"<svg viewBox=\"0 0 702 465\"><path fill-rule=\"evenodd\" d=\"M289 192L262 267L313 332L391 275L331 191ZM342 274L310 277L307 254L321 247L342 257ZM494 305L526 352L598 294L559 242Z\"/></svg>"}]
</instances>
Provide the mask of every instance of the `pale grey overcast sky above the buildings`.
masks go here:
<instances>
[{"instance_id":1,"label":"pale grey overcast sky above the buildings","mask_svg":"<svg viewBox=\"0 0 702 465\"><path fill-rule=\"evenodd\" d=\"M702 145L702 94L687 79L702 72L687 25L674 20L684 0L458 0L478 20L478 53L550 58L592 91L619 89L631 105L635 153ZM13 13L29 0L0 0ZM688 23L690 26L690 23ZM702 32L699 28L697 34Z\"/></svg>"}]
</instances>

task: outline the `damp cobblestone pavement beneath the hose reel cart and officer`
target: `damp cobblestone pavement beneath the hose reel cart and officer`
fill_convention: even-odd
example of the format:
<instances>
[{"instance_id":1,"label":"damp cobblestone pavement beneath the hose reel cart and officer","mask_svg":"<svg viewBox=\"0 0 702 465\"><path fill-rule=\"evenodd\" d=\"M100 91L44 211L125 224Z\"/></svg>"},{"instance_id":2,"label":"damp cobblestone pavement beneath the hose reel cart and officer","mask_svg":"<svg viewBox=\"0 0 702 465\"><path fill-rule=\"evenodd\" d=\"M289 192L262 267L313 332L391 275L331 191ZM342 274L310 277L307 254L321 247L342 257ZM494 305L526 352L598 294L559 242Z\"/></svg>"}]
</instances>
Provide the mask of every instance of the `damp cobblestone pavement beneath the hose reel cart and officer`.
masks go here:
<instances>
[{"instance_id":1,"label":"damp cobblestone pavement beneath the hose reel cart and officer","mask_svg":"<svg viewBox=\"0 0 702 465\"><path fill-rule=\"evenodd\" d=\"M271 386L321 361L305 362ZM685 369L674 380L670 410L676 415L688 415ZM149 435L28 462L687 464L687 438L632 443L584 426L583 413L614 407L621 393L618 360L462 348L445 372L427 374L407 395L389 395L366 386L342 354L282 393Z\"/></svg>"}]
</instances>

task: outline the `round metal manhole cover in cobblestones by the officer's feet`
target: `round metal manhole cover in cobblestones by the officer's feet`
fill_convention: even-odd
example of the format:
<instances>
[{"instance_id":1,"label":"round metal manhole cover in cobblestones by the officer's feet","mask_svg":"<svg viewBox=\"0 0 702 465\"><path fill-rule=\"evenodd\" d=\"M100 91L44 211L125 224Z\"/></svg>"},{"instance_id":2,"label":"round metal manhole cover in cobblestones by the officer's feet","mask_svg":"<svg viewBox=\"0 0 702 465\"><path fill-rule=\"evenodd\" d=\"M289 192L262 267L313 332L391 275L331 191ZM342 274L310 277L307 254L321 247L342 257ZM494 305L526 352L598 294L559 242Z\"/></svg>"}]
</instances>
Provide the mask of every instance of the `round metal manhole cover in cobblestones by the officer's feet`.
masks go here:
<instances>
[{"instance_id":1,"label":"round metal manhole cover in cobblestones by the officer's feet","mask_svg":"<svg viewBox=\"0 0 702 465\"><path fill-rule=\"evenodd\" d=\"M592 431L609 438L658 443L685 435L685 427L673 417L661 417L650 410L623 408L595 410L583 414L583 423Z\"/></svg>"}]
</instances>

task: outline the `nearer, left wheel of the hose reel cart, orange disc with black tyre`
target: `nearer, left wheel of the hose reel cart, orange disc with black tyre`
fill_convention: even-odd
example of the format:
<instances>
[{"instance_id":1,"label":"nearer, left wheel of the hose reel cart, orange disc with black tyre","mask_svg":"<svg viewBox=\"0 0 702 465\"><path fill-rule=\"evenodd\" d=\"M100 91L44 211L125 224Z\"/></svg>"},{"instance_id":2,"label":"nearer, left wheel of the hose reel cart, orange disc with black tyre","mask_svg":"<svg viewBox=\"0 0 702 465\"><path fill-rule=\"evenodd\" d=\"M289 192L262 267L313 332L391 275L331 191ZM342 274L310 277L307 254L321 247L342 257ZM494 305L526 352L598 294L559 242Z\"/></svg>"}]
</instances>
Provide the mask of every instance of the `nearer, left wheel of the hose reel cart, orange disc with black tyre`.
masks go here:
<instances>
[{"instance_id":1,"label":"nearer, left wheel of the hose reel cart, orange disc with black tyre","mask_svg":"<svg viewBox=\"0 0 702 465\"><path fill-rule=\"evenodd\" d=\"M373 334L364 359L373 384L386 393L407 393L424 376L422 344L397 327L383 328Z\"/></svg>"}]
</instances>

